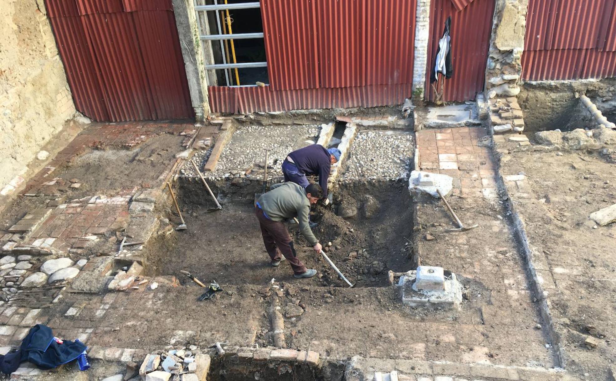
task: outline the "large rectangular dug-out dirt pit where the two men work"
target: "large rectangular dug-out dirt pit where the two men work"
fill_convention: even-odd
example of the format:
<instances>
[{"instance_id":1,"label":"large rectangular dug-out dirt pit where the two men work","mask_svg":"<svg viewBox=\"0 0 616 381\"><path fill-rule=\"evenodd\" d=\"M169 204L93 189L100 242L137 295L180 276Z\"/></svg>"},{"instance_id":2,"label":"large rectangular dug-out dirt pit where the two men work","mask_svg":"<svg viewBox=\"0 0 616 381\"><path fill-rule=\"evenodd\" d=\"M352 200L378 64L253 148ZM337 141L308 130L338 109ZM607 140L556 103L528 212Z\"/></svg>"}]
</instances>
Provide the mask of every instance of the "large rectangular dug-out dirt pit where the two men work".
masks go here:
<instances>
[{"instance_id":1,"label":"large rectangular dug-out dirt pit where the two men work","mask_svg":"<svg viewBox=\"0 0 616 381\"><path fill-rule=\"evenodd\" d=\"M177 276L187 270L206 283L264 285L275 278L302 285L347 287L299 234L297 224L287 226L298 256L308 268L317 269L317 276L295 279L286 261L277 268L270 266L253 206L254 194L262 191L261 181L227 180L211 182L211 186L222 203L220 211L208 211L214 203L201 181L180 179L180 209L188 229L156 238L148 250L151 275ZM389 285L390 269L413 269L413 209L405 181L340 184L334 191L333 206L312 208L312 220L319 223L313 231L355 287L384 287ZM177 216L170 218L176 220ZM191 281L180 277L180 282Z\"/></svg>"}]
</instances>

